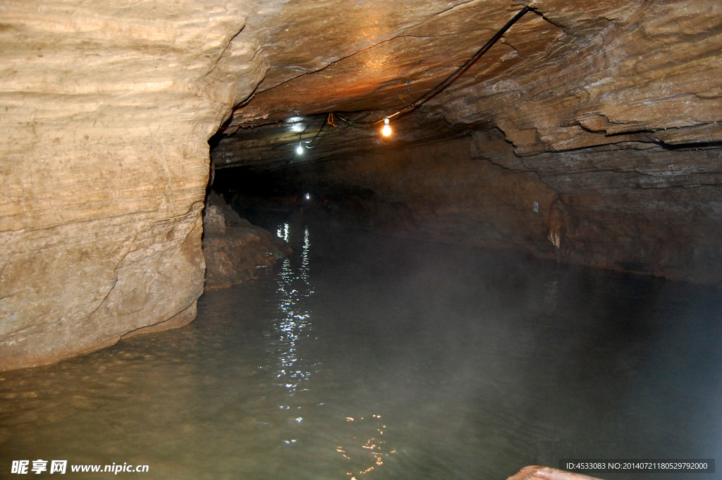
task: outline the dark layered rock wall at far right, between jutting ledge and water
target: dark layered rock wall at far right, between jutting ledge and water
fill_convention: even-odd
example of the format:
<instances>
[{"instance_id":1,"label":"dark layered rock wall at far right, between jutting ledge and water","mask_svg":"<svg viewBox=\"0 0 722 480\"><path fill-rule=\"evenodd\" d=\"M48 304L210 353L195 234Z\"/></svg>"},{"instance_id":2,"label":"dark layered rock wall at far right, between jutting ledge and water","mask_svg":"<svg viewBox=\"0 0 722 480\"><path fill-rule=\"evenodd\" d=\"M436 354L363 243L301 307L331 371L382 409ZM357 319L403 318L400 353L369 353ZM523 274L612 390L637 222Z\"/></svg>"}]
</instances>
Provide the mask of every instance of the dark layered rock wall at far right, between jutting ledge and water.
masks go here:
<instances>
[{"instance_id":1,"label":"dark layered rock wall at far right, between jutting ledge and water","mask_svg":"<svg viewBox=\"0 0 722 480\"><path fill-rule=\"evenodd\" d=\"M559 258L722 284L722 149L541 154L523 163L559 193Z\"/></svg>"}]
</instances>

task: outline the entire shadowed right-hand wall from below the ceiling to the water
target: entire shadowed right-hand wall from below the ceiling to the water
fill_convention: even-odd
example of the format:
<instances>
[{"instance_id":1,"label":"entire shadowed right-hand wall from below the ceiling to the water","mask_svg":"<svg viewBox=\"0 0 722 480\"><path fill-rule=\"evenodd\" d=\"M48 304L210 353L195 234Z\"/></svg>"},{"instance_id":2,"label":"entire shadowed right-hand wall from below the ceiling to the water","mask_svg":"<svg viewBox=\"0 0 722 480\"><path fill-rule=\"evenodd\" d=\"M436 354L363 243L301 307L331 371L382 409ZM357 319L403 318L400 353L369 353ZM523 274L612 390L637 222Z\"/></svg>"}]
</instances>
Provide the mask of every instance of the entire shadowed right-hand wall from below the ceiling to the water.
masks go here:
<instances>
[{"instance_id":1,"label":"entire shadowed right-hand wall from below the ceiling to the water","mask_svg":"<svg viewBox=\"0 0 722 480\"><path fill-rule=\"evenodd\" d=\"M490 129L299 170L309 184L367 188L383 203L406 205L412 222L396 229L383 219L367 222L389 232L722 284L719 148L518 157ZM365 209L374 211L385 210Z\"/></svg>"}]
</instances>

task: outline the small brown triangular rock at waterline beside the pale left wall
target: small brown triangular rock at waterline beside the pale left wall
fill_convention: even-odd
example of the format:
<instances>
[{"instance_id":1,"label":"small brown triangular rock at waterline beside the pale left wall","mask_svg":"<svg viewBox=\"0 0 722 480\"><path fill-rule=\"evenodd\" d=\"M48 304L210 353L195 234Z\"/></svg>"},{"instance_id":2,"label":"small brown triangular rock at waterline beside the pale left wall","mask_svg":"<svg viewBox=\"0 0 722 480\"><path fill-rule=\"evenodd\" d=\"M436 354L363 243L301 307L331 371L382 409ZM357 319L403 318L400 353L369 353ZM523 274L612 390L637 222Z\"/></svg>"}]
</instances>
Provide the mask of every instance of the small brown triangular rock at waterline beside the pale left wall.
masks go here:
<instances>
[{"instance_id":1,"label":"small brown triangular rock at waterline beside the pale left wall","mask_svg":"<svg viewBox=\"0 0 722 480\"><path fill-rule=\"evenodd\" d=\"M203 214L206 290L230 287L253 278L259 267L285 258L291 248L268 230L242 219L211 192Z\"/></svg>"}]
</instances>

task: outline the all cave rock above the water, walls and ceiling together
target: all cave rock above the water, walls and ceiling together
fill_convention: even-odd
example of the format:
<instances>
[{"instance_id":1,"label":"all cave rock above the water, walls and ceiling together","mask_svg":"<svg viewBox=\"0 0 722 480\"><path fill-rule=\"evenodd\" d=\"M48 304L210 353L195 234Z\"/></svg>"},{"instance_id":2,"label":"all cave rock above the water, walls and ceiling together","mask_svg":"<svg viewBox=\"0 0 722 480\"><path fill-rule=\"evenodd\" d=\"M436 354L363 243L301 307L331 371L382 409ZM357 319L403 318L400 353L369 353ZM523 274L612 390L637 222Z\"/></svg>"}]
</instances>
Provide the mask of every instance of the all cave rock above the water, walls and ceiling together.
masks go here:
<instances>
[{"instance_id":1,"label":"all cave rock above the water, walls and ceiling together","mask_svg":"<svg viewBox=\"0 0 722 480\"><path fill-rule=\"evenodd\" d=\"M0 12L0 371L188 326L314 231L722 287L718 1Z\"/></svg>"}]
</instances>

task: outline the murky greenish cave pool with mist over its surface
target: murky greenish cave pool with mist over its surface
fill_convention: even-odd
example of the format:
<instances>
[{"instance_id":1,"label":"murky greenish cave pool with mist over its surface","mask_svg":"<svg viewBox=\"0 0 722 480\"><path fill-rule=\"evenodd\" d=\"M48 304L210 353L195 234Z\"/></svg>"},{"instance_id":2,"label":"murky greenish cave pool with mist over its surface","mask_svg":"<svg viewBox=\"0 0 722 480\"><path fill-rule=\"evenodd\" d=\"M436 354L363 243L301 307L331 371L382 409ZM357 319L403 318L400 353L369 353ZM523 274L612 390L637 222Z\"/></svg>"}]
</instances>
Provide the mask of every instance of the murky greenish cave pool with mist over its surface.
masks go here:
<instances>
[{"instance_id":1,"label":"murky greenish cave pool with mist over its surface","mask_svg":"<svg viewBox=\"0 0 722 480\"><path fill-rule=\"evenodd\" d=\"M38 458L314 480L721 458L718 290L340 227L274 231L295 253L204 294L189 326L0 374L0 478Z\"/></svg>"}]
</instances>

